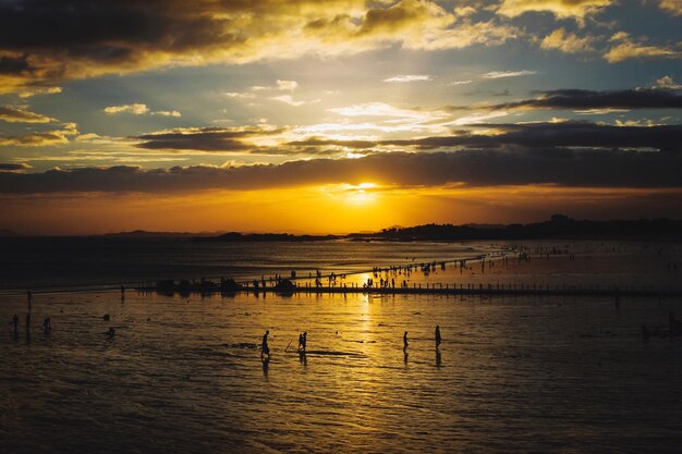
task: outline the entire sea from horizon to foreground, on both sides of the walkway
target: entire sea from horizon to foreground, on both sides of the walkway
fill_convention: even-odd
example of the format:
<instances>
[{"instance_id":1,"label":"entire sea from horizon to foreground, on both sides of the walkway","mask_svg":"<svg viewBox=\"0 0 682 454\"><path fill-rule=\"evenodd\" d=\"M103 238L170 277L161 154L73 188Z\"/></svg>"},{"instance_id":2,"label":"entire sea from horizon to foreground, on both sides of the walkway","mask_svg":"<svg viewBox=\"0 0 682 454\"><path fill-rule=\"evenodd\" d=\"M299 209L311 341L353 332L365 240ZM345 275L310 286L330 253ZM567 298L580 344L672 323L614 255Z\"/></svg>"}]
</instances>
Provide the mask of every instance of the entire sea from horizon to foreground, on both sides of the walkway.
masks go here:
<instances>
[{"instance_id":1,"label":"entire sea from horizon to foreground, on both sides of the walkway","mask_svg":"<svg viewBox=\"0 0 682 454\"><path fill-rule=\"evenodd\" d=\"M675 289L679 244L14 238L2 245L10 250L2 255L0 295L2 452L680 450L682 338L668 324L670 312L682 316L680 297L187 296L129 287L122 299L108 291L163 278L318 269L367 271L346 278L363 282L377 266L482 254L496 260L397 277L424 285ZM528 259L520 260L520 250ZM509 260L499 258L504 251ZM31 307L26 289L34 291ZM16 334L9 324L14 314ZM49 333L40 329L46 317ZM266 330L271 354L261 360Z\"/></svg>"}]
</instances>

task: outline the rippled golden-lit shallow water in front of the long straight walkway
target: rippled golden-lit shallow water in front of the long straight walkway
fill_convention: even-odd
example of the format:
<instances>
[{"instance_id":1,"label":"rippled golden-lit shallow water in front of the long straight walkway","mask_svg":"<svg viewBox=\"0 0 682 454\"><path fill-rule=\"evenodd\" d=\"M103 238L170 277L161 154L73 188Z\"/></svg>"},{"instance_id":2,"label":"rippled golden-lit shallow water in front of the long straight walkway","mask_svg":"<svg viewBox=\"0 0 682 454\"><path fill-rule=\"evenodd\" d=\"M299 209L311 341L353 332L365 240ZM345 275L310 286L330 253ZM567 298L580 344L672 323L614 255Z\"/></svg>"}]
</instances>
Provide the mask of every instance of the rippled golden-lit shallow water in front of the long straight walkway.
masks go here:
<instances>
[{"instance_id":1,"label":"rippled golden-lit shallow water in front of the long straight walkway","mask_svg":"<svg viewBox=\"0 0 682 454\"><path fill-rule=\"evenodd\" d=\"M37 295L29 338L25 298L1 303L2 452L641 453L682 442L682 339L666 335L679 298ZM14 312L17 336L5 324ZM261 363L248 344L266 329ZM337 355L287 352L304 330L308 349Z\"/></svg>"}]
</instances>

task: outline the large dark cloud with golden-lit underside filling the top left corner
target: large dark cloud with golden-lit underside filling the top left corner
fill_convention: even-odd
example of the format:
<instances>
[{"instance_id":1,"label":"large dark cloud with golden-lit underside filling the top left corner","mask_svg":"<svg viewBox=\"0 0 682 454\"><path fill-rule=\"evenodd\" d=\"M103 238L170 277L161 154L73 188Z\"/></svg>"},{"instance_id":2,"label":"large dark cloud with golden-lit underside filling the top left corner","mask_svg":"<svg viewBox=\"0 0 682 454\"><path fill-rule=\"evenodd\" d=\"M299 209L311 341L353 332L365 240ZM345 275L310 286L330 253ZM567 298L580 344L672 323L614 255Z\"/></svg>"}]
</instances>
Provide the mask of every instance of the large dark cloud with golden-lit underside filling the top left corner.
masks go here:
<instances>
[{"instance_id":1,"label":"large dark cloud with golden-lit underside filling the top left corner","mask_svg":"<svg viewBox=\"0 0 682 454\"><path fill-rule=\"evenodd\" d=\"M494 46L522 33L492 21L460 22L431 0L5 1L0 29L0 93L27 96L170 65Z\"/></svg>"}]
</instances>

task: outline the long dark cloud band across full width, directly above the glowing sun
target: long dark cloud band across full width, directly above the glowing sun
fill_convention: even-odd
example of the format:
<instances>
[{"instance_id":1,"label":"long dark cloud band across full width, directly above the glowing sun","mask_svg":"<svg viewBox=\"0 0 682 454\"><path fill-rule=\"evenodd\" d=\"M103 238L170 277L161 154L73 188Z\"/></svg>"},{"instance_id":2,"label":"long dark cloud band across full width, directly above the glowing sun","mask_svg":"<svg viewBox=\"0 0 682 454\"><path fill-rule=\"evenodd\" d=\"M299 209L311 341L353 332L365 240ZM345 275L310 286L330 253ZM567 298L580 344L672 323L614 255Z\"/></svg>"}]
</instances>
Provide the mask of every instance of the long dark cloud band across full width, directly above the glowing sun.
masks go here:
<instances>
[{"instance_id":1,"label":"long dark cloud band across full width, directly above the glowing sun","mask_svg":"<svg viewBox=\"0 0 682 454\"><path fill-rule=\"evenodd\" d=\"M192 192L257 189L376 181L398 186L555 184L572 187L682 187L682 154L604 149L465 149L374 154L361 159L315 159L280 165L133 167L0 174L0 193Z\"/></svg>"}]
</instances>

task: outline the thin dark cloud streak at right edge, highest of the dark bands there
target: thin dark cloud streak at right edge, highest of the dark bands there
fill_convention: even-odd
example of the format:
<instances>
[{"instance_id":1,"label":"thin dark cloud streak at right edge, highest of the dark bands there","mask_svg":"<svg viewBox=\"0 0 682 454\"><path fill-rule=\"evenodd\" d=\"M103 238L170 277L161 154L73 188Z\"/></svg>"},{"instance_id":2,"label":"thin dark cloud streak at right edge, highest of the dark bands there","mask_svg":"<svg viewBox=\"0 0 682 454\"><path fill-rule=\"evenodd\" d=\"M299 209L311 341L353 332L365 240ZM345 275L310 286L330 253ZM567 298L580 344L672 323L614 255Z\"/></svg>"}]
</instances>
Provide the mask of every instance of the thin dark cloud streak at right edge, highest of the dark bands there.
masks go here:
<instances>
[{"instance_id":1,"label":"thin dark cloud streak at right edge, highest of the dark bands there","mask_svg":"<svg viewBox=\"0 0 682 454\"><path fill-rule=\"evenodd\" d=\"M682 94L660 88L637 88L616 91L593 91L580 89L560 89L541 91L541 96L514 102L478 106L476 109L682 109ZM452 107L453 110L472 109Z\"/></svg>"}]
</instances>

